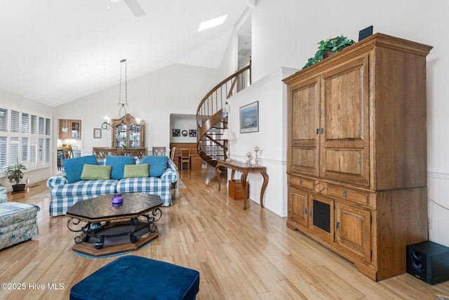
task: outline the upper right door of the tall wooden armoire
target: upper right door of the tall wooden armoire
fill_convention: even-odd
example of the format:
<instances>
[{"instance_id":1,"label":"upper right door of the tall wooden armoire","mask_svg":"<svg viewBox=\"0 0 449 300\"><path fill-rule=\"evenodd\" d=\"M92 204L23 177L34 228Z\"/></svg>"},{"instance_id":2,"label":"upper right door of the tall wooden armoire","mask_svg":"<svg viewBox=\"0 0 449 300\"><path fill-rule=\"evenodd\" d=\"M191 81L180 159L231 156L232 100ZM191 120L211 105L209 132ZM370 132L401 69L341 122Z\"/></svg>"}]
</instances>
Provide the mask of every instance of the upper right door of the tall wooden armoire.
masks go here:
<instances>
[{"instance_id":1,"label":"upper right door of the tall wooden armoire","mask_svg":"<svg viewBox=\"0 0 449 300\"><path fill-rule=\"evenodd\" d=\"M368 63L365 54L323 74L323 178L369 185Z\"/></svg>"}]
</instances>

